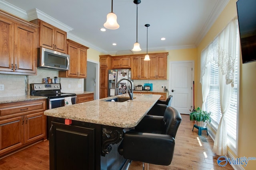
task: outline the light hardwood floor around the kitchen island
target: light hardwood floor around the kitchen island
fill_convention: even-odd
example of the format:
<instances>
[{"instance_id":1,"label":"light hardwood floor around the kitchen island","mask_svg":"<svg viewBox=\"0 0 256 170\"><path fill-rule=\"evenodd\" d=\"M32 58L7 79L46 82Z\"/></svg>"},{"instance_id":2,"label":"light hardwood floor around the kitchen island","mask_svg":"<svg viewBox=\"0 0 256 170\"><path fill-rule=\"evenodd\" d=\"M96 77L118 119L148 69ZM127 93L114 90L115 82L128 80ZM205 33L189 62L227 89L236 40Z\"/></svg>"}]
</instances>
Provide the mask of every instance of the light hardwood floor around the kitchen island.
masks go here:
<instances>
[{"instance_id":1,"label":"light hardwood floor around the kitchen island","mask_svg":"<svg viewBox=\"0 0 256 170\"><path fill-rule=\"evenodd\" d=\"M189 115L182 115L182 123L175 138L175 150L169 166L149 164L149 170L233 170L227 164L220 167L216 160L219 156L212 152L213 141L198 129L192 131L194 123ZM200 146L200 144L202 146ZM44 141L27 149L0 159L0 170L48 170L49 142ZM129 170L142 169L142 162L133 161Z\"/></svg>"}]
</instances>

